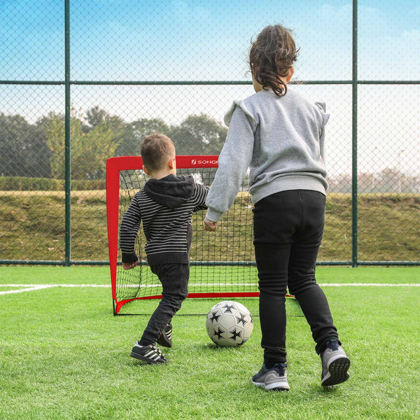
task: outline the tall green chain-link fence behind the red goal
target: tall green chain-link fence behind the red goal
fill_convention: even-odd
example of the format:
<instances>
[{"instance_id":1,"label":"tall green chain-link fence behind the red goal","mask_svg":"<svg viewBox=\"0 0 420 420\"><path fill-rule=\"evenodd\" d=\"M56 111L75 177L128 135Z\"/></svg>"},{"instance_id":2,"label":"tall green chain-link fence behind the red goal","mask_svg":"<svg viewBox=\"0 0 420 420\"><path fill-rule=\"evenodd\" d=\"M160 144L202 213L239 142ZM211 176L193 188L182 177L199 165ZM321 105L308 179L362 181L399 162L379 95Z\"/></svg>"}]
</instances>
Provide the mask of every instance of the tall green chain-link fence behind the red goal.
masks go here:
<instances>
[{"instance_id":1,"label":"tall green chain-link fence behind the red goal","mask_svg":"<svg viewBox=\"0 0 420 420\"><path fill-rule=\"evenodd\" d=\"M331 113L319 262L419 265L420 10L402 3L2 2L0 262L106 264L106 159L153 131L218 154L251 38L280 22L290 88Z\"/></svg>"}]
</instances>

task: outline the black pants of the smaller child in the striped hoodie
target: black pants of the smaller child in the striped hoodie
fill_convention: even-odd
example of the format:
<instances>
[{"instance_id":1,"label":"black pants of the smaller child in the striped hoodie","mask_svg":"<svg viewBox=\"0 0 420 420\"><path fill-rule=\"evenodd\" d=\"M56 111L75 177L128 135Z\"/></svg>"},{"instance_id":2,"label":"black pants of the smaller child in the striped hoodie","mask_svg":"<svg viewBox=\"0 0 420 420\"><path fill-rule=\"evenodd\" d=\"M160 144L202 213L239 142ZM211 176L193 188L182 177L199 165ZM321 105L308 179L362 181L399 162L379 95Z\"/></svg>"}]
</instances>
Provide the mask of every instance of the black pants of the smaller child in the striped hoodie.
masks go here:
<instances>
[{"instance_id":1,"label":"black pants of the smaller child in the striped hoodie","mask_svg":"<svg viewBox=\"0 0 420 420\"><path fill-rule=\"evenodd\" d=\"M188 279L190 277L188 264L159 264L150 267L162 283L162 300L141 336L140 344L142 346L155 343L165 326L181 309L181 304L188 295Z\"/></svg>"}]
</instances>

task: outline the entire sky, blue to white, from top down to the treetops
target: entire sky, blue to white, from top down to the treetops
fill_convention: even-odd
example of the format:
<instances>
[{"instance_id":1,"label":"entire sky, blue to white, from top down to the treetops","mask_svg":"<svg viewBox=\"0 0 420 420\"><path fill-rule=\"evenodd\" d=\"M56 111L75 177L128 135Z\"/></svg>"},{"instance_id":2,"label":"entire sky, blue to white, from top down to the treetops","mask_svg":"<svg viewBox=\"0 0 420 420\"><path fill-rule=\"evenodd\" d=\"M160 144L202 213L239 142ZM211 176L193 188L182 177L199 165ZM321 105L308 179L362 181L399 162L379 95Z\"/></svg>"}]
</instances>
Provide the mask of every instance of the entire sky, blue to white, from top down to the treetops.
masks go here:
<instances>
[{"instance_id":1,"label":"entire sky, blue to white, from top down to the treetops","mask_svg":"<svg viewBox=\"0 0 420 420\"><path fill-rule=\"evenodd\" d=\"M71 79L250 80L251 38L279 22L300 47L297 80L350 80L351 17L351 1L339 0L71 0ZM420 79L418 0L359 1L358 76ZM63 79L64 0L0 0L0 80ZM330 169L349 172L351 87L297 88L327 103ZM250 86L72 86L71 103L79 115L99 105L125 120L180 123L207 113L222 121L232 99L252 93ZM362 168L395 166L399 155L398 166L419 171L419 97L419 85L359 87ZM0 112L34 122L49 111L64 111L62 86L0 85Z\"/></svg>"}]
</instances>

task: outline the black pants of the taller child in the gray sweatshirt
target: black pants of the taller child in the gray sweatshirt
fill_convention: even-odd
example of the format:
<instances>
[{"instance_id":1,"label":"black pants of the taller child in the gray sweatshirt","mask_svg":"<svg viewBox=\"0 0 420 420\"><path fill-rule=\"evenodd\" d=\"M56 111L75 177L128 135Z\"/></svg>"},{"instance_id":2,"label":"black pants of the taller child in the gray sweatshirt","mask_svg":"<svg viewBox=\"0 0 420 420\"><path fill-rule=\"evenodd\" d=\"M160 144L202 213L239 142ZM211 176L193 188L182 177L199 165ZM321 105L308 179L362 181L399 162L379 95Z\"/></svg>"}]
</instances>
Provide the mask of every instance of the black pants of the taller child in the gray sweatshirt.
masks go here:
<instances>
[{"instance_id":1,"label":"black pants of the taller child in the gray sweatshirt","mask_svg":"<svg viewBox=\"0 0 420 420\"><path fill-rule=\"evenodd\" d=\"M328 301L315 279L325 195L282 191L257 202L253 213L264 361L286 363L287 287L299 302L320 353L327 339L338 339Z\"/></svg>"}]
</instances>

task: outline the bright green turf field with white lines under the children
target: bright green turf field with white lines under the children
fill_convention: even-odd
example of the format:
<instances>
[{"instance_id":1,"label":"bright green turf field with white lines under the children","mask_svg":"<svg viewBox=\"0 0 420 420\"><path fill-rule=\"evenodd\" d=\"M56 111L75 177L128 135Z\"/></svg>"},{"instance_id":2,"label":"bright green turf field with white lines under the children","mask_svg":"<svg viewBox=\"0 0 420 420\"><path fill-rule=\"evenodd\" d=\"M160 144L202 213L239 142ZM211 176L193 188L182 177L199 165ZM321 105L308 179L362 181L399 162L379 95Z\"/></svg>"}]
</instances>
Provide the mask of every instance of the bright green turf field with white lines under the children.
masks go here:
<instances>
[{"instance_id":1,"label":"bright green turf field with white lines under the children","mask_svg":"<svg viewBox=\"0 0 420 420\"><path fill-rule=\"evenodd\" d=\"M258 317L251 339L226 349L207 337L204 315L176 316L172 362L142 365L129 353L148 317L112 315L106 267L0 267L0 419L419 419L420 268L317 274L351 377L321 387L309 328L288 300L290 391L270 393L250 381L262 363ZM10 293L47 284L104 287ZM258 315L257 299L239 301ZM216 302L187 300L180 314ZM148 313L156 304L141 302Z\"/></svg>"}]
</instances>

